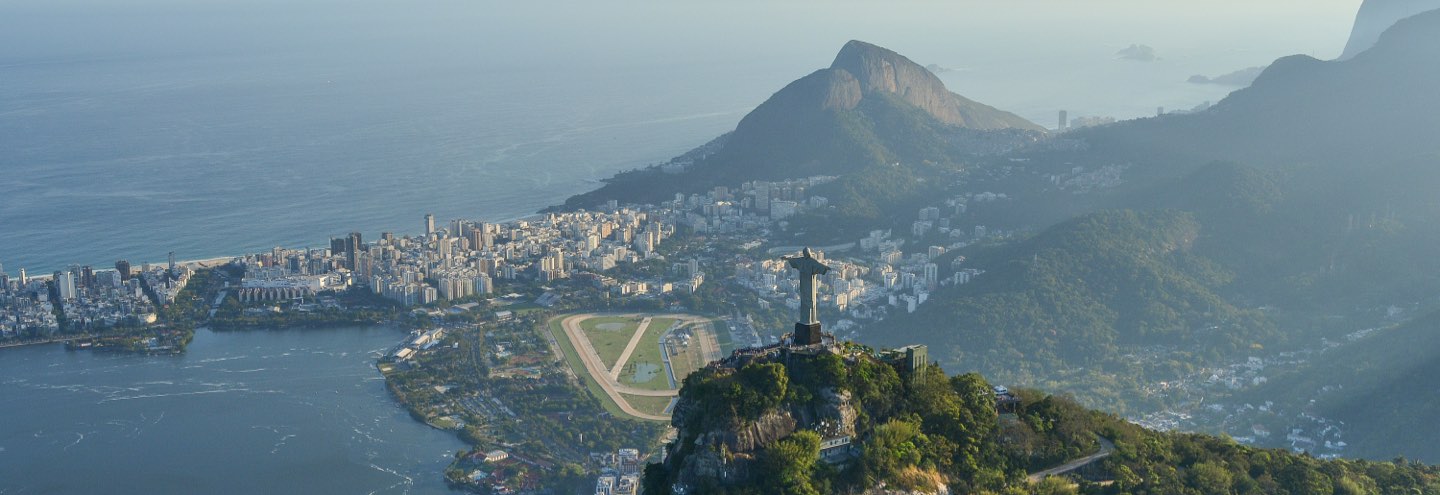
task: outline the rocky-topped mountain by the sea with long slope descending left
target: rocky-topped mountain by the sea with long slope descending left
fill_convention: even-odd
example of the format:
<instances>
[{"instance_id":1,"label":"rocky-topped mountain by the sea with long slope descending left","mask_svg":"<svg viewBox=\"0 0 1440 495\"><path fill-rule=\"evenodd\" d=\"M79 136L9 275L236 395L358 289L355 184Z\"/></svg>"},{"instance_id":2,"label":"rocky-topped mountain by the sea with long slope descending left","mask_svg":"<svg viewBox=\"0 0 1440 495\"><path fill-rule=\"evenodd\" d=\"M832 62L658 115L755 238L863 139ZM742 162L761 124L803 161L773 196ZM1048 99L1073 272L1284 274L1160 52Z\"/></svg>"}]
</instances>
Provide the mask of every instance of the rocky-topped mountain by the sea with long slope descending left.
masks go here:
<instances>
[{"instance_id":1,"label":"rocky-topped mountain by the sea with long slope descending left","mask_svg":"<svg viewBox=\"0 0 1440 495\"><path fill-rule=\"evenodd\" d=\"M743 180L844 176L890 163L953 163L972 150L966 132L1045 130L946 89L940 78L893 50L851 40L829 68L791 82L747 114L724 140L662 167L622 173L566 201L658 201Z\"/></svg>"}]
</instances>

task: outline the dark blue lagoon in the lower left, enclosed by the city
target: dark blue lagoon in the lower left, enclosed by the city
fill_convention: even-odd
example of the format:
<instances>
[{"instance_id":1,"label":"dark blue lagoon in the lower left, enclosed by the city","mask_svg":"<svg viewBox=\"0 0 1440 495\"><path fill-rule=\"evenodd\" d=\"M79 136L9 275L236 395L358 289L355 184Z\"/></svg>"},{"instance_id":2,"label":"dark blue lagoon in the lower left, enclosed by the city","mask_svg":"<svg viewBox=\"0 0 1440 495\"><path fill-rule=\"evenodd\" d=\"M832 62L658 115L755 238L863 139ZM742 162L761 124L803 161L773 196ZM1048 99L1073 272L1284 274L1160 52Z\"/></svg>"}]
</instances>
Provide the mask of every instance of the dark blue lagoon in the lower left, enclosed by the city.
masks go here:
<instances>
[{"instance_id":1,"label":"dark blue lagoon in the lower left, enclosed by the city","mask_svg":"<svg viewBox=\"0 0 1440 495\"><path fill-rule=\"evenodd\" d=\"M200 331L184 355L0 350L0 494L442 494L452 433L415 422L389 328Z\"/></svg>"}]
</instances>

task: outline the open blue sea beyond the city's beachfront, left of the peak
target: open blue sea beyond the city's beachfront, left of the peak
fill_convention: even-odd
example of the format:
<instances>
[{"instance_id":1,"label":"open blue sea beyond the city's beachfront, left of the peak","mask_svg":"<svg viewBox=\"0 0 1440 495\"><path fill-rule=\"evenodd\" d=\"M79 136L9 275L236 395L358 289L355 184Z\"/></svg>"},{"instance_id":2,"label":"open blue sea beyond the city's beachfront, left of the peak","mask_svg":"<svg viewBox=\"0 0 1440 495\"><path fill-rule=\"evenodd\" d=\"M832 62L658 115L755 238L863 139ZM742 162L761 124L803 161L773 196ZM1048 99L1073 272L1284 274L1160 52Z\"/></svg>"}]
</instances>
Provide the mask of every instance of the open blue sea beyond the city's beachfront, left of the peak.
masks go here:
<instances>
[{"instance_id":1,"label":"open blue sea beyond the city's beachfront, left of the peak","mask_svg":"<svg viewBox=\"0 0 1440 495\"><path fill-rule=\"evenodd\" d=\"M577 91L559 71L238 58L0 68L9 272L323 246L350 230L413 233L425 213L530 214L746 111L635 102L613 75Z\"/></svg>"}]
</instances>

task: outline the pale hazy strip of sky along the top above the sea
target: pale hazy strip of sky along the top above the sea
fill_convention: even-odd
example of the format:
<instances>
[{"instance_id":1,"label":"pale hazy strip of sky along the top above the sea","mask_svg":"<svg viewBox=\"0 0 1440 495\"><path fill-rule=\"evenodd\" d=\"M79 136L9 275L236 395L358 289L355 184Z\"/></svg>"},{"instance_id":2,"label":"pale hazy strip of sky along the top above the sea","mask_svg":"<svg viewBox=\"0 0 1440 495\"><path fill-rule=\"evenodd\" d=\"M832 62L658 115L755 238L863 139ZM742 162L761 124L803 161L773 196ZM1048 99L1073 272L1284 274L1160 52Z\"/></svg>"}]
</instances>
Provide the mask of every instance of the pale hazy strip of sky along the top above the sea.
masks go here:
<instances>
[{"instance_id":1,"label":"pale hazy strip of sky along the top above the sea","mask_svg":"<svg viewBox=\"0 0 1440 495\"><path fill-rule=\"evenodd\" d=\"M1063 47L1074 40L1290 47L1333 56L1358 0L966 0L966 1L275 1L48 0L0 3L0 55L84 55L132 43L177 50L213 42L298 47L356 39L487 33L487 50L566 60L615 50L651 56L759 56L832 52L863 37L920 52ZM939 47L936 49L939 50Z\"/></svg>"}]
</instances>

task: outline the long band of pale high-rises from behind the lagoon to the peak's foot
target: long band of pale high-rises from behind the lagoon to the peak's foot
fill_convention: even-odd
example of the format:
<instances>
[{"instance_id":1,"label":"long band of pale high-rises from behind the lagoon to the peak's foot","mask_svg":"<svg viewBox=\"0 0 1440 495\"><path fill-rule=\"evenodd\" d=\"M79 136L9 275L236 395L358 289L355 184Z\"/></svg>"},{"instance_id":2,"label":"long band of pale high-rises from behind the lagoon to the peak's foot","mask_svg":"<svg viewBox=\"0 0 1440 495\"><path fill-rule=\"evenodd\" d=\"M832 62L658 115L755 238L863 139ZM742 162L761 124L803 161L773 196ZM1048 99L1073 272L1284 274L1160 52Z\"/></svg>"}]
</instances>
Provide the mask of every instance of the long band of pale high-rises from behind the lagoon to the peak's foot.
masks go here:
<instances>
[{"instance_id":1,"label":"long band of pale high-rises from behind the lagoon to the peak's foot","mask_svg":"<svg viewBox=\"0 0 1440 495\"><path fill-rule=\"evenodd\" d=\"M334 237L328 249L281 249L239 258L242 302L301 299L327 289L366 286L405 305L494 294L500 281L553 282L580 278L615 295L696 291L706 275L694 260L672 279L622 281L600 272L660 258L657 249L687 226L701 233L762 230L828 200L808 193L834 177L749 181L639 209L615 201L599 212L550 213L505 223L425 216L423 236L360 233ZM847 291L845 296L861 292Z\"/></svg>"}]
</instances>

